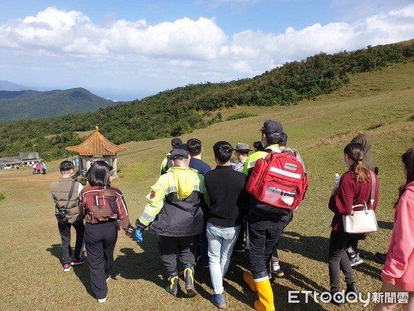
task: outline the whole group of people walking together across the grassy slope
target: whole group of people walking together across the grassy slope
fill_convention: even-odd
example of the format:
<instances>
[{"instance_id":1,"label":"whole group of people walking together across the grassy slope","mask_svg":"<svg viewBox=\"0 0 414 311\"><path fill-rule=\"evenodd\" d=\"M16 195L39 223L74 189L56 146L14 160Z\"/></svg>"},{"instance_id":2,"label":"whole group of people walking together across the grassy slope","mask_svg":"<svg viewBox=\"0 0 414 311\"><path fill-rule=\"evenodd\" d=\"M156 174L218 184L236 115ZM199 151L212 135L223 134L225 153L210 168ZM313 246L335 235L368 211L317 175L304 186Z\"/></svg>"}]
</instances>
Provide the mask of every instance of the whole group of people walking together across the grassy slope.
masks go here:
<instances>
[{"instance_id":1,"label":"whole group of people walking together across the grassy slope","mask_svg":"<svg viewBox=\"0 0 414 311\"><path fill-rule=\"evenodd\" d=\"M293 218L293 210L304 198L308 180L299 153L286 147L288 136L282 124L267 120L261 132L260 141L253 144L255 152L246 143L237 143L233 148L229 142L216 142L215 169L201 160L200 140L193 138L183 143L179 138L172 139L172 150L161 163L160 176L150 188L136 228L130 224L123 194L111 185L113 168L108 163L99 160L92 164L86 173L89 186L83 188L72 179L73 163L61 162L61 178L52 183L51 196L61 234L63 271L86 262L82 256L84 242L92 292L103 303L118 230L122 228L128 236L135 235L137 243L145 243L142 232L148 229L159 238L159 254L168 280L166 290L170 294L179 292L182 274L186 294L197 295L194 279L198 257L210 271L211 303L226 308L223 278L234 249L248 252L248 270L243 279L251 291L257 292L255 310L275 310L272 274L284 276L277 244ZM231 160L233 153L239 162ZM264 171L268 162L282 163L283 167L274 164ZM368 135L358 135L346 145L344 164L348 170L333 188L328 202L334 213L328 250L328 294L335 305L342 304L335 298L338 295L359 294L352 266L362 263L357 243L368 236L345 232L342 216L351 214L355 199L371 202L373 211L377 207L378 167ZM391 243L386 254L376 256L384 263L381 292L408 292L403 309L414 310L414 147L402 155L402 169L406 183L400 187L395 203ZM282 176L279 181L275 181L277 174ZM257 189L259 180L267 180L266 187ZM292 180L302 182L302 186L293 187ZM73 256L71 226L77 237ZM340 290L341 271L345 291ZM384 300L375 310L389 310L396 304Z\"/></svg>"}]
</instances>

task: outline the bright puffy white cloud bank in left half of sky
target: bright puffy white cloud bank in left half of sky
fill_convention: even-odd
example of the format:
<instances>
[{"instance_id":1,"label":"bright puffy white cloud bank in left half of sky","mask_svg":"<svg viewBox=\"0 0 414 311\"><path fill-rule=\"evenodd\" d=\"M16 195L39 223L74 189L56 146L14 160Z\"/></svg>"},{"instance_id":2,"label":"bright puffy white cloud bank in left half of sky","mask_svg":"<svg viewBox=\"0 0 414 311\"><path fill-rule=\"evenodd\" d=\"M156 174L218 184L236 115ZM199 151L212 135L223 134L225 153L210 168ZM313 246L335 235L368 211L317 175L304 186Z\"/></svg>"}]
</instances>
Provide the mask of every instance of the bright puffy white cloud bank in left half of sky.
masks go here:
<instances>
[{"instance_id":1,"label":"bright puffy white cloud bank in left half of sky","mask_svg":"<svg viewBox=\"0 0 414 311\"><path fill-rule=\"evenodd\" d=\"M177 59L215 59L226 35L213 19L184 17L148 26L145 20L119 20L107 27L90 23L81 12L47 8L36 17L0 27L0 47L55 50L91 55L148 55Z\"/></svg>"}]
</instances>

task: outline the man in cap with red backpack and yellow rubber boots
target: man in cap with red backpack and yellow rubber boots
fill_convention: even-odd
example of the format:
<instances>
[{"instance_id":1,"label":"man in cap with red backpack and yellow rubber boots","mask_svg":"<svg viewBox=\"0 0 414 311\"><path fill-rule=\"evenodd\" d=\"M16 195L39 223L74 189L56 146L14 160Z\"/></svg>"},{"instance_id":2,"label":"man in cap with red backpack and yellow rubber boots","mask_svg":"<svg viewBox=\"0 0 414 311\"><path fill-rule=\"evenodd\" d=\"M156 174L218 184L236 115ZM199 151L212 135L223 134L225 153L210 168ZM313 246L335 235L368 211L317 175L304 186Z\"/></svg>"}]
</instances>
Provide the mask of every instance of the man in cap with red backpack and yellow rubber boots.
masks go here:
<instances>
[{"instance_id":1,"label":"man in cap with red backpack and yellow rubber boots","mask_svg":"<svg viewBox=\"0 0 414 311\"><path fill-rule=\"evenodd\" d=\"M282 153L279 141L283 126L267 120L262 127L264 151L251 154L244 164L248 176L248 233L250 249L244 281L258 292L256 310L275 310L270 285L270 258L290 221L292 210L301 202L307 187L307 176L294 153ZM278 179L279 178L279 179Z\"/></svg>"}]
</instances>

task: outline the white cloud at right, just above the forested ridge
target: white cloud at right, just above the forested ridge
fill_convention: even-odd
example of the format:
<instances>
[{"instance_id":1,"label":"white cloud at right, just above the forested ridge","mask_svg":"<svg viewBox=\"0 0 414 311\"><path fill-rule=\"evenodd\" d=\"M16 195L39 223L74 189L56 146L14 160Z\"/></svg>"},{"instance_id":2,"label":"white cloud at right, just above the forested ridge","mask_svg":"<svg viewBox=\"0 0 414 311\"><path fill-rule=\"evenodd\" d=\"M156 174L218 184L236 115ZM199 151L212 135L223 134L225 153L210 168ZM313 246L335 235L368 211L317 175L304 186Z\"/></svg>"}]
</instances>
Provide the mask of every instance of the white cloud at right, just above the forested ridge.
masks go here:
<instances>
[{"instance_id":1,"label":"white cloud at right, just above the forested ridge","mask_svg":"<svg viewBox=\"0 0 414 311\"><path fill-rule=\"evenodd\" d=\"M244 58L263 72L265 64L283 64L319 52L337 53L368 45L390 44L414 38L414 4L387 14L359 19L354 23L315 23L303 29L286 28L284 34L244 31L233 35L226 57ZM233 56L229 55L229 51ZM273 60L272 62L269 62ZM256 64L256 66L253 65Z\"/></svg>"}]
</instances>

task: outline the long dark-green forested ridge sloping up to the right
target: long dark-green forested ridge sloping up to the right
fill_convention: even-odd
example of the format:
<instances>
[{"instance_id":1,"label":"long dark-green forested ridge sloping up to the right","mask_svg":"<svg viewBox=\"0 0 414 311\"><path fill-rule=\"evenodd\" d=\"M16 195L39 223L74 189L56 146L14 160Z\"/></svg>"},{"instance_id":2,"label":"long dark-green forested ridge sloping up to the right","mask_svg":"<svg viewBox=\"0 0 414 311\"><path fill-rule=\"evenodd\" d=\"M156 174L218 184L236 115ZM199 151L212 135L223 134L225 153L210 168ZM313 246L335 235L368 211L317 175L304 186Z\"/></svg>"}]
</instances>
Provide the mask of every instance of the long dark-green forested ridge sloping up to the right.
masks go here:
<instances>
[{"instance_id":1,"label":"long dark-green forested ridge sloping up to the right","mask_svg":"<svg viewBox=\"0 0 414 311\"><path fill-rule=\"evenodd\" d=\"M333 55L319 53L257 77L190 84L93 113L1 122L0 156L38 151L46 160L61 157L64 147L81 142L75 131L90 131L95 125L115 144L190 133L220 122L221 109L297 104L332 93L347 84L354 73L400 62L414 62L414 40Z\"/></svg>"}]
</instances>

